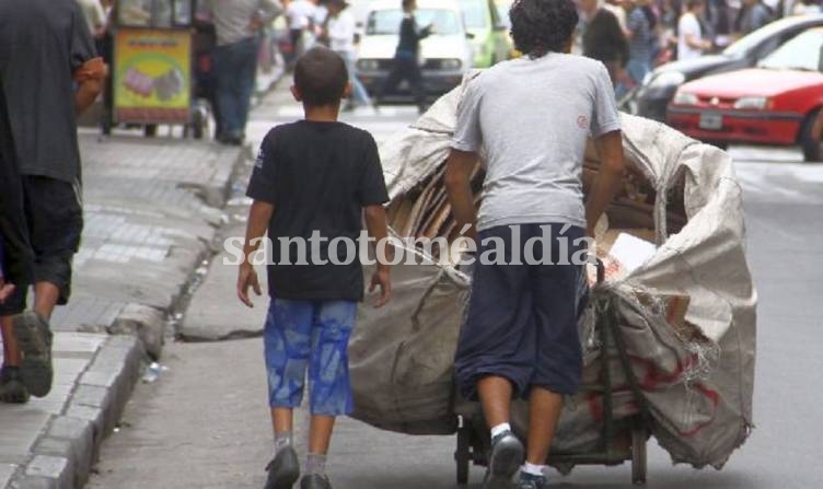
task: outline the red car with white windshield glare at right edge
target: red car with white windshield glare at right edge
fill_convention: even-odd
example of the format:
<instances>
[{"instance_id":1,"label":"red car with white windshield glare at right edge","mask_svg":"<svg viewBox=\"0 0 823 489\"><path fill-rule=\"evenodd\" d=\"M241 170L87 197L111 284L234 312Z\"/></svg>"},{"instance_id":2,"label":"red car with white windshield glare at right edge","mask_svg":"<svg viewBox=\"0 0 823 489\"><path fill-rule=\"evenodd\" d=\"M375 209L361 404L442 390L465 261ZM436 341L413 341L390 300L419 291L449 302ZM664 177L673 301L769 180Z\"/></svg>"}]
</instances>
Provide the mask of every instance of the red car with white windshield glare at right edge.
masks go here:
<instances>
[{"instance_id":1,"label":"red car with white windshield glare at right edge","mask_svg":"<svg viewBox=\"0 0 823 489\"><path fill-rule=\"evenodd\" d=\"M726 147L730 142L800 144L807 161L821 156L823 27L784 44L757 68L686 83L669 105L666 123Z\"/></svg>"}]
</instances>

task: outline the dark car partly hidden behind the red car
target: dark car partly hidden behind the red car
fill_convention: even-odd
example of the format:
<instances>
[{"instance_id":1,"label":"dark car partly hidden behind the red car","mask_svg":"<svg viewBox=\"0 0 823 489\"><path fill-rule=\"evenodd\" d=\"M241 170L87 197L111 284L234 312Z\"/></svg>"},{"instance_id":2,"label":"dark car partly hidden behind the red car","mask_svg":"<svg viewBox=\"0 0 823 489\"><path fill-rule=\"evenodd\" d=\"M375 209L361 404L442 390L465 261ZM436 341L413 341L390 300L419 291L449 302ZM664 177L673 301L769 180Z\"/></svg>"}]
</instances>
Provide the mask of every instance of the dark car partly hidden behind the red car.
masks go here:
<instances>
[{"instance_id":1,"label":"dark car partly hidden behind the red car","mask_svg":"<svg viewBox=\"0 0 823 489\"><path fill-rule=\"evenodd\" d=\"M638 115L663 121L666 106L683 83L708 74L754 67L787 40L821 25L823 14L786 18L740 38L719 55L663 65L647 77L631 105Z\"/></svg>"}]
</instances>

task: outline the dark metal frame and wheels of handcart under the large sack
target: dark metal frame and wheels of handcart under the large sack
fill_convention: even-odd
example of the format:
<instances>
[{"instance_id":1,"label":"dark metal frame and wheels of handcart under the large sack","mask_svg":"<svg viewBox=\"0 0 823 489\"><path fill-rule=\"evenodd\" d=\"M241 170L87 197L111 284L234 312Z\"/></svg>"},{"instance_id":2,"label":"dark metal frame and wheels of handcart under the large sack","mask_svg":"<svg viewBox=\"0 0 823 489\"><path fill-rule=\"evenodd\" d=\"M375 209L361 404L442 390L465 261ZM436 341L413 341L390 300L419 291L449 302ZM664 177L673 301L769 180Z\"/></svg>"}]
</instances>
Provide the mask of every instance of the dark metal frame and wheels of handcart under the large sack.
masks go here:
<instances>
[{"instance_id":1,"label":"dark metal frame and wheels of handcart under the large sack","mask_svg":"<svg viewBox=\"0 0 823 489\"><path fill-rule=\"evenodd\" d=\"M603 263L598 260L598 283L602 283L605 276ZM612 401L612 372L608 361L602 361L603 372L601 384L583 385L584 392L600 393L603 396L603 426L598 446L591 452L557 453L552 452L546 461L547 465L556 468L560 474L568 475L577 465L622 465L631 463L631 481L635 485L646 484L646 442L649 439L649 410L646 399L630 360L626 353L616 312L605 293L594 288L591 300L596 311L596 333L601 340L601 351L608 354L616 351L621 368L624 369L634 400L639 414L628 420L615 420ZM612 348L613 347L613 348ZM607 359L606 359L607 360ZM482 418L482 417L480 417ZM454 461L457 466L457 484L468 482L468 469L472 464L488 465L490 440L483 419L461 416L457 428L457 449Z\"/></svg>"}]
</instances>

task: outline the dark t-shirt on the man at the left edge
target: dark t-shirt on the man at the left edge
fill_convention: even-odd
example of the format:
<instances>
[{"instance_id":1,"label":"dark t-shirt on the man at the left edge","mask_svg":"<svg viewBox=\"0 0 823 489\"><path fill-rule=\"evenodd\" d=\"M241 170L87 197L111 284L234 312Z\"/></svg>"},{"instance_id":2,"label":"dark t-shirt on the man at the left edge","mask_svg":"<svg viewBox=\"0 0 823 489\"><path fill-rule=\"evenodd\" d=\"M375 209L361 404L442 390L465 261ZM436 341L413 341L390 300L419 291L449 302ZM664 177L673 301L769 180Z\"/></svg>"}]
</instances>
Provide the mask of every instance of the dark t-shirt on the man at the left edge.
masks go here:
<instances>
[{"instance_id":1,"label":"dark t-shirt on the man at the left edge","mask_svg":"<svg viewBox=\"0 0 823 489\"><path fill-rule=\"evenodd\" d=\"M0 0L0 77L22 174L80 179L71 78L95 57L76 0Z\"/></svg>"}]
</instances>

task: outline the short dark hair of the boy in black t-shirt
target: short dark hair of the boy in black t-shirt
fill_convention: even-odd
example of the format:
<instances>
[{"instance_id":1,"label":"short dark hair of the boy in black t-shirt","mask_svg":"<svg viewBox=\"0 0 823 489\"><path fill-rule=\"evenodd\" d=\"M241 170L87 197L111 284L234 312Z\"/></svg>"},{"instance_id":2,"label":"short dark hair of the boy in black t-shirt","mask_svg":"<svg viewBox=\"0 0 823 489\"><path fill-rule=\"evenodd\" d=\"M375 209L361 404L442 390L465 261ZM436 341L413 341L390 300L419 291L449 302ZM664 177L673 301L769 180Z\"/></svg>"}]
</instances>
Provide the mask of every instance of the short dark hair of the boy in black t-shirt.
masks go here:
<instances>
[{"instance_id":1,"label":"short dark hair of the boy in black t-shirt","mask_svg":"<svg viewBox=\"0 0 823 489\"><path fill-rule=\"evenodd\" d=\"M309 106L339 104L348 82L346 62L325 47L309 49L294 67L294 85Z\"/></svg>"}]
</instances>

